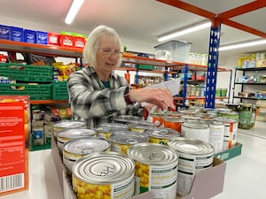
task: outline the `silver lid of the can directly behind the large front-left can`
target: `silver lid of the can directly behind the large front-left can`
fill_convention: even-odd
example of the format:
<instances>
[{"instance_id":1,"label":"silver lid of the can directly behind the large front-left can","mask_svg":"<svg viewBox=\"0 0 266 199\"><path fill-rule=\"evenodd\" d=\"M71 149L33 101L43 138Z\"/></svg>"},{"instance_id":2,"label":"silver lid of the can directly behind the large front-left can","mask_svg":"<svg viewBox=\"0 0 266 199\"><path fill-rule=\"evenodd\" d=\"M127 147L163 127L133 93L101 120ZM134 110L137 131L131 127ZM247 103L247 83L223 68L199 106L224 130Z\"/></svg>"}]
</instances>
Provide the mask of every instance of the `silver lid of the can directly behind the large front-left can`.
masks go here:
<instances>
[{"instance_id":1,"label":"silver lid of the can directly behind the large front-left can","mask_svg":"<svg viewBox=\"0 0 266 199\"><path fill-rule=\"evenodd\" d=\"M87 137L77 138L64 143L63 149L74 155L86 155L109 149L111 143L105 138Z\"/></svg>"}]
</instances>

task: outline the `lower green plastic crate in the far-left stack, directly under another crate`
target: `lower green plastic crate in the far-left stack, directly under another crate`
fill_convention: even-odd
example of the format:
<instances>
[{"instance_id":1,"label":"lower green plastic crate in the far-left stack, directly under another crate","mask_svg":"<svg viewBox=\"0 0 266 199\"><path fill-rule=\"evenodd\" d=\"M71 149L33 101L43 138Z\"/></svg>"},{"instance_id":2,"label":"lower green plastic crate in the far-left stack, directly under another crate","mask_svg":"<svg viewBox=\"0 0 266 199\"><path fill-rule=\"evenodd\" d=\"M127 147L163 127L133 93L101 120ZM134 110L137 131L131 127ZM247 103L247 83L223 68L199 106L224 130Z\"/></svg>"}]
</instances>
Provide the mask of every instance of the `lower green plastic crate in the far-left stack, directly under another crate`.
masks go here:
<instances>
[{"instance_id":1,"label":"lower green plastic crate in the far-left stack, directly under another crate","mask_svg":"<svg viewBox=\"0 0 266 199\"><path fill-rule=\"evenodd\" d=\"M0 83L0 96L30 96L30 100L51 100L50 84Z\"/></svg>"}]
</instances>

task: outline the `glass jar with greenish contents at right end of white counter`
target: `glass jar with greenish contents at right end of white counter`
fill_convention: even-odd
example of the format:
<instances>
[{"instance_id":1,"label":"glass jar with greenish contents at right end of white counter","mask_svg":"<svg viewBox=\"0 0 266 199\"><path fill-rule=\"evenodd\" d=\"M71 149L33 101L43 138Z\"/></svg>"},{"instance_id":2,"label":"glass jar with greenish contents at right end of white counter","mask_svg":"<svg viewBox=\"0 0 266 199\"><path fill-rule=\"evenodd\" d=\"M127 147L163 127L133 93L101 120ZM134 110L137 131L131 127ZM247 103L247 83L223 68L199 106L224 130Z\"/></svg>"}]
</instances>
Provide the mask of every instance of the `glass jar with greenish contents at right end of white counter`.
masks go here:
<instances>
[{"instance_id":1,"label":"glass jar with greenish contents at right end of white counter","mask_svg":"<svg viewBox=\"0 0 266 199\"><path fill-rule=\"evenodd\" d=\"M250 129L252 127L252 103L240 103L239 128Z\"/></svg>"}]
</instances>

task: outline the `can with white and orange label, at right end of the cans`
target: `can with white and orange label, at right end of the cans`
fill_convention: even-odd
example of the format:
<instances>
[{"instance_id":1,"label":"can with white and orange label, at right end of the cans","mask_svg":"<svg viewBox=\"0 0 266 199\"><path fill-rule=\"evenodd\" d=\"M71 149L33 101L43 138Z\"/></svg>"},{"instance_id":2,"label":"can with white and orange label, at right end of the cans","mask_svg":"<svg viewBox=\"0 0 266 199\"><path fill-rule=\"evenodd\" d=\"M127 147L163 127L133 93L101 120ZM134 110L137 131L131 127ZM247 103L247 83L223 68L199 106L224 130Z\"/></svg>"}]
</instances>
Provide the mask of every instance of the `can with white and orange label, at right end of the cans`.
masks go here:
<instances>
[{"instance_id":1,"label":"can with white and orange label, at right end of the cans","mask_svg":"<svg viewBox=\"0 0 266 199\"><path fill-rule=\"evenodd\" d=\"M231 149L237 143L238 121L225 117L216 117L215 121L222 121L224 124L223 150Z\"/></svg>"}]
</instances>

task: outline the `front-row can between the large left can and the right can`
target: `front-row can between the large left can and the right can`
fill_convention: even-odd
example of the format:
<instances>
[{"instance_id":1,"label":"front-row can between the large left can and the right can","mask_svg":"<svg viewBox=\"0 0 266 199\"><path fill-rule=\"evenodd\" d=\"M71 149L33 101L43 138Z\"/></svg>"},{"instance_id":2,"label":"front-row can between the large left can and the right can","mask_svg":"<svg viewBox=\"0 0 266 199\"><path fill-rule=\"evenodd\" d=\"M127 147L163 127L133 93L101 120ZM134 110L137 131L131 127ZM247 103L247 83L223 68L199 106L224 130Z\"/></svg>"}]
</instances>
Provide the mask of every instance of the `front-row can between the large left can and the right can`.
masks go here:
<instances>
[{"instance_id":1,"label":"front-row can between the large left can and the right can","mask_svg":"<svg viewBox=\"0 0 266 199\"><path fill-rule=\"evenodd\" d=\"M138 143L128 150L135 160L135 195L150 191L156 199L176 199L178 155L167 145Z\"/></svg>"}]
</instances>

